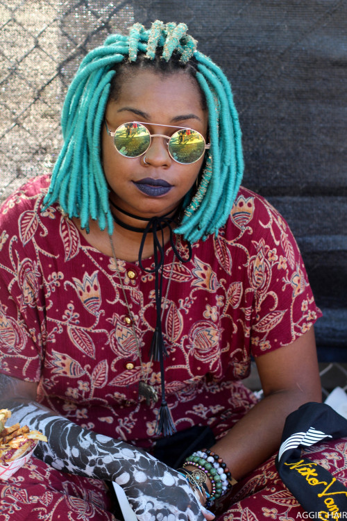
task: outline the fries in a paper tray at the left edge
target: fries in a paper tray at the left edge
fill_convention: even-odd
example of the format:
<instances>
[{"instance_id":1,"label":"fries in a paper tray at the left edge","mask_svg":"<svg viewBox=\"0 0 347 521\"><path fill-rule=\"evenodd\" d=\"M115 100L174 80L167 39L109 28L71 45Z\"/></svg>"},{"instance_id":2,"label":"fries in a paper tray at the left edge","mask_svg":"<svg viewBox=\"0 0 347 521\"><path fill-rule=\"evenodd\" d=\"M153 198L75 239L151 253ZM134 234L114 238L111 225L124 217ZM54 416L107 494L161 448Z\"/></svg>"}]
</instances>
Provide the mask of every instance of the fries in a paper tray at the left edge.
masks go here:
<instances>
[{"instance_id":1,"label":"fries in a paper tray at the left edge","mask_svg":"<svg viewBox=\"0 0 347 521\"><path fill-rule=\"evenodd\" d=\"M31 431L27 425L19 423L5 427L6 420L11 417L8 409L0 409L0 463L6 464L22 458L33 449L38 440L47 441L39 431Z\"/></svg>"}]
</instances>

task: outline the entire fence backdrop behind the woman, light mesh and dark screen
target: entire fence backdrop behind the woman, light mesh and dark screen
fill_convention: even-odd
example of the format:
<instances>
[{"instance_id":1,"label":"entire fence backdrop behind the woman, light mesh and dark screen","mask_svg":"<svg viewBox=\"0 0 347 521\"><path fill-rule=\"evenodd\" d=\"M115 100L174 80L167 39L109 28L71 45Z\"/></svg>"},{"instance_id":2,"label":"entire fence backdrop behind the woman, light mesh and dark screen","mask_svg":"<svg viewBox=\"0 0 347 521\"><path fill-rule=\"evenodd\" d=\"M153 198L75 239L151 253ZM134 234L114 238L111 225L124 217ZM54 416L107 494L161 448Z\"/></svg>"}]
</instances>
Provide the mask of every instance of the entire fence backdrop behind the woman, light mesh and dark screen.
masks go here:
<instances>
[{"instance_id":1,"label":"entire fence backdrop behind the woman, light mesh and dark screen","mask_svg":"<svg viewBox=\"0 0 347 521\"><path fill-rule=\"evenodd\" d=\"M0 0L0 198L50 171L62 100L85 53L157 18L186 22L230 79L244 185L298 240L324 313L319 358L347 361L347 1Z\"/></svg>"}]
</instances>

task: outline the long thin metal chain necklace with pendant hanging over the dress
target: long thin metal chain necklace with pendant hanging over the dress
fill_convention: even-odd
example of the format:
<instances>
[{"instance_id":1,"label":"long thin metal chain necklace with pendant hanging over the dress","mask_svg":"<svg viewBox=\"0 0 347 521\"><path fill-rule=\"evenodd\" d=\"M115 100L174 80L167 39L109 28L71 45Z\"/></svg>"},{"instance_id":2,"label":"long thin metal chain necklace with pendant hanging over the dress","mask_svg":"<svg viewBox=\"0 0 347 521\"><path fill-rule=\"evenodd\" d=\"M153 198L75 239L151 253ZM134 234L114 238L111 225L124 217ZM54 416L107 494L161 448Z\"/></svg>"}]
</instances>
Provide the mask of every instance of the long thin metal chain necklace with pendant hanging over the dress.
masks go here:
<instances>
[{"instance_id":1,"label":"long thin metal chain necklace with pendant hanging over the dress","mask_svg":"<svg viewBox=\"0 0 347 521\"><path fill-rule=\"evenodd\" d=\"M147 373L144 372L144 365L142 363L142 356L141 356L141 348L140 348L140 345L139 345L139 338L137 337L136 330L135 330L135 321L133 320L133 312L130 309L130 305L129 305L129 302L128 302L128 297L126 295L126 288L124 287L123 278L121 276L121 272L119 271L118 259L117 259L116 254L115 254L115 246L113 245L112 235L108 235L108 238L110 239L110 246L111 246L112 256L113 256L113 260L115 261L115 267L116 267L117 276L118 276L119 281L121 283L121 290L123 292L124 301L126 303L126 308L128 309L128 313L129 313L129 316L131 318L131 329L132 329L132 332L133 332L133 337L135 339L135 345L136 345L136 349L137 349L137 355L139 357L139 363L141 365L141 379L139 381L139 397L140 396L144 397L146 399L146 404L150 405L152 399L153 399L153 402L158 402L158 392L155 390L155 388L153 386L151 386L150 383L148 383L149 370L150 369L147 371ZM167 291L166 291L166 294L165 294L165 297L164 297L164 302L162 304L162 315L160 317L161 320L162 320L162 317L164 315L165 306L167 304L167 296L169 295L169 289L170 289L170 285L171 285L172 274L174 272L175 258L176 258L176 253L174 251L174 257L173 257L172 263L171 263L169 280L168 280L168 283L167 283ZM151 354L151 362L152 361L153 361L153 354Z\"/></svg>"}]
</instances>

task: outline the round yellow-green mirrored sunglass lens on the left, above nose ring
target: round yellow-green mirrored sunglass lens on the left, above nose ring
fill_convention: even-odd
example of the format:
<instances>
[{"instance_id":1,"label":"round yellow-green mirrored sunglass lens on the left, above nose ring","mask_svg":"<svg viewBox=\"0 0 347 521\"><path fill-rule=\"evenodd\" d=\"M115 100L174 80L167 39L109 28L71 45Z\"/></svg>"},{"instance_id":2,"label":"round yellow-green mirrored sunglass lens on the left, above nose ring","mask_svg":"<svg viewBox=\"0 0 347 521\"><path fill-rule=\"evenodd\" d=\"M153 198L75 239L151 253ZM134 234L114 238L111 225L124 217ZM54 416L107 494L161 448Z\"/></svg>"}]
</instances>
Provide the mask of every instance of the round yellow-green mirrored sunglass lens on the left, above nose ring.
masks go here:
<instances>
[{"instance_id":1,"label":"round yellow-green mirrored sunglass lens on the left, above nose ring","mask_svg":"<svg viewBox=\"0 0 347 521\"><path fill-rule=\"evenodd\" d=\"M148 149L151 136L144 125L125 123L116 130L114 140L119 154L127 158L136 158Z\"/></svg>"}]
</instances>

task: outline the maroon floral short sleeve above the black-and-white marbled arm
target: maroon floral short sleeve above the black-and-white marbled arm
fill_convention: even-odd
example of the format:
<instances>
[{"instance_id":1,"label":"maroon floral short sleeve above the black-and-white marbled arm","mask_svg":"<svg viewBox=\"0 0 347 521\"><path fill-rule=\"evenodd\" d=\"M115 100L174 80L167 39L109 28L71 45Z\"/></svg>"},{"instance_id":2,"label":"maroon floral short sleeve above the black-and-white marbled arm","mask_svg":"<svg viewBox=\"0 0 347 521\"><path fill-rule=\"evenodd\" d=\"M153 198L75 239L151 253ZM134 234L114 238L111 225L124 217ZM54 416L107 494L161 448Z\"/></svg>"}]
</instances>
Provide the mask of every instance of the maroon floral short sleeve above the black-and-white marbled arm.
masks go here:
<instances>
[{"instance_id":1,"label":"maroon floral short sleeve above the black-and-white marbled arm","mask_svg":"<svg viewBox=\"0 0 347 521\"><path fill-rule=\"evenodd\" d=\"M35 228L33 197L26 196L19 190L0 208L0 372L39 381L44 304L35 247L26 243Z\"/></svg>"}]
</instances>

